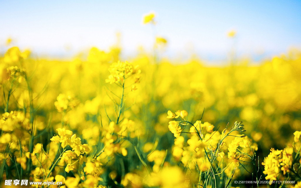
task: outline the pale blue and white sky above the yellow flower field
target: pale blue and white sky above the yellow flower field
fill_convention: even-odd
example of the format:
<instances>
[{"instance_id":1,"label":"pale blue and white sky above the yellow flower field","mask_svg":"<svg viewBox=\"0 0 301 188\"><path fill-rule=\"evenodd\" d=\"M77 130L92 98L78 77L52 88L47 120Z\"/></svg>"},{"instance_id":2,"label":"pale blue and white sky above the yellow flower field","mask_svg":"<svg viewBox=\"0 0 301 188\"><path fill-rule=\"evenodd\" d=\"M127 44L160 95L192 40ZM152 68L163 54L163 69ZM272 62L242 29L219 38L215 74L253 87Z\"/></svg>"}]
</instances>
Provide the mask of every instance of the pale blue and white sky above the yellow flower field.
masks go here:
<instances>
[{"instance_id":1,"label":"pale blue and white sky above the yellow flower field","mask_svg":"<svg viewBox=\"0 0 301 188\"><path fill-rule=\"evenodd\" d=\"M240 55L275 55L301 47L301 1L1 1L0 51L5 40L36 54L73 54L116 42L124 55L138 46L150 49L153 30L142 15L154 11L156 33L169 44L166 54L197 53L224 57L237 31ZM66 46L70 47L66 51Z\"/></svg>"}]
</instances>

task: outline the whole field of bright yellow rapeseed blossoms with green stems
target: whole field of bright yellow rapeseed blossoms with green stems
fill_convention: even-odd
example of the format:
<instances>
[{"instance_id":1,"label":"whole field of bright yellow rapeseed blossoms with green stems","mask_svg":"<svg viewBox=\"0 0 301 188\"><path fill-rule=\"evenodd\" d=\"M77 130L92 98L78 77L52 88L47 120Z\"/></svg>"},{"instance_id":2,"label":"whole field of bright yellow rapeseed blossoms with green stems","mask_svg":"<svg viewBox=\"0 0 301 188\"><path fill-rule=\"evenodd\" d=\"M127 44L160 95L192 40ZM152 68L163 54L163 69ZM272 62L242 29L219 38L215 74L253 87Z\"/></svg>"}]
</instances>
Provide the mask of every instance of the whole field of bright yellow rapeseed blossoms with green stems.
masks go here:
<instances>
[{"instance_id":1,"label":"whole field of bright yellow rapeseed blossoms with green stems","mask_svg":"<svg viewBox=\"0 0 301 188\"><path fill-rule=\"evenodd\" d=\"M301 187L300 51L208 66L160 58L154 41L128 61L118 45L69 61L9 47L0 186Z\"/></svg>"}]
</instances>

